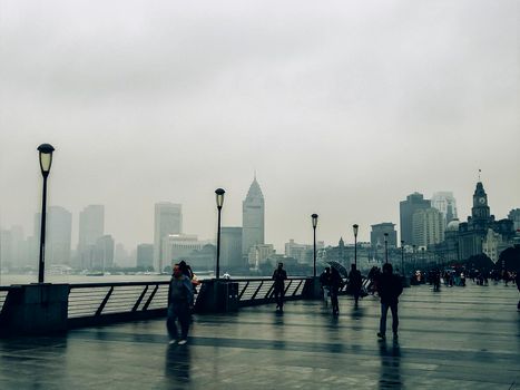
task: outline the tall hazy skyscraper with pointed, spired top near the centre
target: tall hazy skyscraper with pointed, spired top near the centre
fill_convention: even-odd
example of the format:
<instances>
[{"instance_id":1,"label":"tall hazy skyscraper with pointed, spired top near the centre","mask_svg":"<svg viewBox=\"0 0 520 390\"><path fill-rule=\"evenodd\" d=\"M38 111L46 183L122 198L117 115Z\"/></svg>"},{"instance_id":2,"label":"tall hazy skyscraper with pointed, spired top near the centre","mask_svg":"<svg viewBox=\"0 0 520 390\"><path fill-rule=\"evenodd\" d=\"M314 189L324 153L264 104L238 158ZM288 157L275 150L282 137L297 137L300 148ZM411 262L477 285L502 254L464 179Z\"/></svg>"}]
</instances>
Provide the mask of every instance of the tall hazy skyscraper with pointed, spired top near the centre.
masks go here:
<instances>
[{"instance_id":1,"label":"tall hazy skyscraper with pointed, spired top near the centre","mask_svg":"<svg viewBox=\"0 0 520 390\"><path fill-rule=\"evenodd\" d=\"M242 254L248 256L251 247L265 243L264 195L256 176L246 198L242 202Z\"/></svg>"}]
</instances>

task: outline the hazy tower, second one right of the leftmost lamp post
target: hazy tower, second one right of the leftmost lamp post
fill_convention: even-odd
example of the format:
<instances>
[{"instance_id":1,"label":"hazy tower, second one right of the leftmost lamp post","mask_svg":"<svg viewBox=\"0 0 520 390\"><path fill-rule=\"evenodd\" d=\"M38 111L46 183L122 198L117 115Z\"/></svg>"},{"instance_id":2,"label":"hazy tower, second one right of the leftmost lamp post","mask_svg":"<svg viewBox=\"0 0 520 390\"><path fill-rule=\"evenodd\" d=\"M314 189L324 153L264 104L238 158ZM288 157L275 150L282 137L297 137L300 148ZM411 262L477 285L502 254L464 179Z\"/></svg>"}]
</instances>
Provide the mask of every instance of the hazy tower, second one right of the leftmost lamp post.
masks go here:
<instances>
[{"instance_id":1,"label":"hazy tower, second one right of the leftmost lamp post","mask_svg":"<svg viewBox=\"0 0 520 390\"><path fill-rule=\"evenodd\" d=\"M98 238L105 232L105 206L89 205L79 213L78 256L80 266L91 269L96 261Z\"/></svg>"}]
</instances>

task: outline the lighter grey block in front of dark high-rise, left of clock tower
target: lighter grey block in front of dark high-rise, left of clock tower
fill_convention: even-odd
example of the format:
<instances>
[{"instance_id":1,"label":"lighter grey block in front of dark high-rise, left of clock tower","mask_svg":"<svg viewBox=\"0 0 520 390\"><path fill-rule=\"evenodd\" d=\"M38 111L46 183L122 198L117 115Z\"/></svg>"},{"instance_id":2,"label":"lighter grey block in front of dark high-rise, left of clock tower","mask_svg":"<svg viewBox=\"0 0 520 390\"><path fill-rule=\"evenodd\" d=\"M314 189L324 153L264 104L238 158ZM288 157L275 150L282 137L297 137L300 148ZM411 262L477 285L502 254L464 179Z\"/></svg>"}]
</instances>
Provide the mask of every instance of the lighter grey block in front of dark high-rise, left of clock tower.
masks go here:
<instances>
[{"instance_id":1,"label":"lighter grey block in front of dark high-rise, left of clock tower","mask_svg":"<svg viewBox=\"0 0 520 390\"><path fill-rule=\"evenodd\" d=\"M435 207L419 208L412 216L413 243L418 246L444 241L444 217Z\"/></svg>"}]
</instances>

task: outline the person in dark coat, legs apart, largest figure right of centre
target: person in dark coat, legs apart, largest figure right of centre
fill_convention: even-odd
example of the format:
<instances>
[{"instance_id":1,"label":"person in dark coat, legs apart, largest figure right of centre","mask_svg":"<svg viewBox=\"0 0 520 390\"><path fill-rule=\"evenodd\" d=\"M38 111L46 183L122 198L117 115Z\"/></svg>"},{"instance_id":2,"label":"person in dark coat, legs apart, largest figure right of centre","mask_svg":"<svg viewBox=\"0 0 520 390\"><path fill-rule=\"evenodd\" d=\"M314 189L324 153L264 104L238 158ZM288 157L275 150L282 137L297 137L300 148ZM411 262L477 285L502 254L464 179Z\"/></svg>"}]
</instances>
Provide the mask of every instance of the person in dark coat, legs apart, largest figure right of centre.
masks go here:
<instances>
[{"instance_id":1,"label":"person in dark coat, legs apart, largest figure right of centre","mask_svg":"<svg viewBox=\"0 0 520 390\"><path fill-rule=\"evenodd\" d=\"M398 338L398 303L399 295L401 295L402 292L403 284L399 275L393 274L392 264L384 264L383 273L377 281L377 293L381 298L381 321L377 337L383 340L386 338L386 315L389 309L392 311L392 331L394 338Z\"/></svg>"}]
</instances>

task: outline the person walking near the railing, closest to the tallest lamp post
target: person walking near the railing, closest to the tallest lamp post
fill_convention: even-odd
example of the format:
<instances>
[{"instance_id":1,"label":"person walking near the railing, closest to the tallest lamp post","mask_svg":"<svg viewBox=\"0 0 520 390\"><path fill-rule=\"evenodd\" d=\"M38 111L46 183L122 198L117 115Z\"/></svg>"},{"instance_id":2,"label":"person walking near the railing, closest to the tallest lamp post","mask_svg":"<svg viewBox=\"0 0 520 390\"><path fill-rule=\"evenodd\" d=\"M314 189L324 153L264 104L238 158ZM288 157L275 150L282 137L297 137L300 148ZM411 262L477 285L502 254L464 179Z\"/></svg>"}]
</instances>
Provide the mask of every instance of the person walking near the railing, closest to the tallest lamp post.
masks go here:
<instances>
[{"instance_id":1,"label":"person walking near the railing, closest to the tallest lamp post","mask_svg":"<svg viewBox=\"0 0 520 390\"><path fill-rule=\"evenodd\" d=\"M166 328L170 338L169 343L173 344L178 339L177 325L178 320L180 325L179 345L184 345L188 339L189 330L189 311L194 304L194 292L192 281L183 274L179 264L174 265L174 274L169 282L168 290L168 318Z\"/></svg>"}]
</instances>

